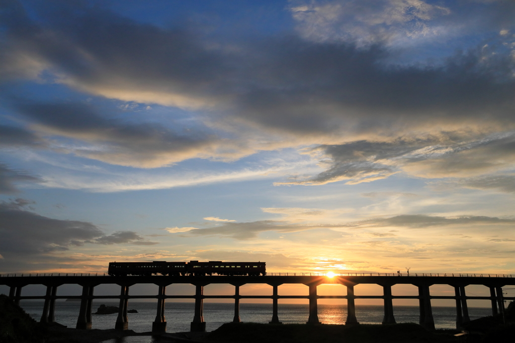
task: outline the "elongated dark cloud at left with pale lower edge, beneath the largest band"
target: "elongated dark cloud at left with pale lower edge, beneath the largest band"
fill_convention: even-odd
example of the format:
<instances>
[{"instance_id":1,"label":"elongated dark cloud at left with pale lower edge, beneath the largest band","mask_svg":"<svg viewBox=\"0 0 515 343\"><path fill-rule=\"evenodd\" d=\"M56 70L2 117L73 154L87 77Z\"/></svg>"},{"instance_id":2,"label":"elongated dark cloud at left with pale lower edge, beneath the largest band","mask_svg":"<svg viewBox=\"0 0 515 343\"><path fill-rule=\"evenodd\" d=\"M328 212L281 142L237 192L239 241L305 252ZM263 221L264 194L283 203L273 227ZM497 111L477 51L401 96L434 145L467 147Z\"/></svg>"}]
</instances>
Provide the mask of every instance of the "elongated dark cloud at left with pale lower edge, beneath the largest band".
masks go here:
<instances>
[{"instance_id":1,"label":"elongated dark cloud at left with pale lower edge, beneath the largest band","mask_svg":"<svg viewBox=\"0 0 515 343\"><path fill-rule=\"evenodd\" d=\"M214 140L201 133L179 134L158 123L108 119L102 117L94 106L85 103L30 103L24 100L17 107L20 113L31 119L33 127L41 135L89 143L89 149L68 149L79 156L110 164L160 167L198 156Z\"/></svg>"}]
</instances>

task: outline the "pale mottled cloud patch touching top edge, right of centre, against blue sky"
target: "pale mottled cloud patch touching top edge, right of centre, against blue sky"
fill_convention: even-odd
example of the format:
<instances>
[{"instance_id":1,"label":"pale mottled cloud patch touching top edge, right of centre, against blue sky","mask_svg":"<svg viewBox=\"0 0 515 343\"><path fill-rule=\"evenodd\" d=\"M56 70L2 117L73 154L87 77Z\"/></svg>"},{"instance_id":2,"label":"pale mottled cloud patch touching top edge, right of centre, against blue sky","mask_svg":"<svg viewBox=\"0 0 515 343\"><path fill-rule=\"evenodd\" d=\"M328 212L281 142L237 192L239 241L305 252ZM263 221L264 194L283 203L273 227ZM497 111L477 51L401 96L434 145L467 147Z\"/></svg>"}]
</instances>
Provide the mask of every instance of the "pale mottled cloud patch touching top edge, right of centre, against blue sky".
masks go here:
<instances>
[{"instance_id":1,"label":"pale mottled cloud patch touching top edge, right of centre, against blue sky","mask_svg":"<svg viewBox=\"0 0 515 343\"><path fill-rule=\"evenodd\" d=\"M361 44L395 44L406 38L438 35L432 20L451 10L422 0L293 1L298 30L310 40L350 40Z\"/></svg>"}]
</instances>

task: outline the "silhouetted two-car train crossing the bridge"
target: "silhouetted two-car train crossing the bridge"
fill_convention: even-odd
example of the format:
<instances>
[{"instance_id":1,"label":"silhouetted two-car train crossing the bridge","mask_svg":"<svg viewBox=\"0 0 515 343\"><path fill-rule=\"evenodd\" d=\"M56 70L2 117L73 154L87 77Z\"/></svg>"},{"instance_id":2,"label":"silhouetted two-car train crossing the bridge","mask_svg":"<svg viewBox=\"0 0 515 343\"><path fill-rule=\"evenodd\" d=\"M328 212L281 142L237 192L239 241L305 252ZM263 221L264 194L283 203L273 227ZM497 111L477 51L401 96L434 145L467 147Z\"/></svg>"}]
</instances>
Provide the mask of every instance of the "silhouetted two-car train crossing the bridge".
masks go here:
<instances>
[{"instance_id":1,"label":"silhouetted two-car train crossing the bridge","mask_svg":"<svg viewBox=\"0 0 515 343\"><path fill-rule=\"evenodd\" d=\"M265 262L111 262L108 273L111 276L152 274L170 276L206 276L206 275L266 275Z\"/></svg>"}]
</instances>

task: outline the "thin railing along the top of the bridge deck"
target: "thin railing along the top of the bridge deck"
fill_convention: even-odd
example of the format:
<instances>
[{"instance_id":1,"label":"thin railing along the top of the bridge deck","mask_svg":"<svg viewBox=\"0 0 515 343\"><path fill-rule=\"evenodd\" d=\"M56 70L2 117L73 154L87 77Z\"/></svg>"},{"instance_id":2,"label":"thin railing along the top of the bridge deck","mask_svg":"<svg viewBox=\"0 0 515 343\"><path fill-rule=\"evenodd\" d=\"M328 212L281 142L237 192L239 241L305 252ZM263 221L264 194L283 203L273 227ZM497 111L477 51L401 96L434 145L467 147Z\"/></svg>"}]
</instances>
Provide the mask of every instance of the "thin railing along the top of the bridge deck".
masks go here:
<instances>
[{"instance_id":1,"label":"thin railing along the top of the bridge deck","mask_svg":"<svg viewBox=\"0 0 515 343\"><path fill-rule=\"evenodd\" d=\"M0 278L35 277L35 276L108 276L107 273L9 273L0 274ZM330 276L328 273L291 273L272 272L267 276ZM464 273L334 273L334 276L431 276L431 277L476 277L476 278L515 278L513 274L464 274Z\"/></svg>"}]
</instances>

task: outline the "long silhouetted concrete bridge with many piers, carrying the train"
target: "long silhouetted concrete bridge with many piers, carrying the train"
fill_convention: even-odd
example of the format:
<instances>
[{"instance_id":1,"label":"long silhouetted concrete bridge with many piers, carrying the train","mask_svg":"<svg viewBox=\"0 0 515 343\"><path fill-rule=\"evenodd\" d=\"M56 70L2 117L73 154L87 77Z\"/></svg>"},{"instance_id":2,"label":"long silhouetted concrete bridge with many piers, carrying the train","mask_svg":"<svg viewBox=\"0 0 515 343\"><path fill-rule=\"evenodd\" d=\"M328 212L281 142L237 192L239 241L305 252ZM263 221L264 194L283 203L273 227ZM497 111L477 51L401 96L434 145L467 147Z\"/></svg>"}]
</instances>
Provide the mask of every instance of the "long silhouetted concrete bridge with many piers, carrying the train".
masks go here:
<instances>
[{"instance_id":1,"label":"long silhouetted concrete bridge with many piers, carrying the train","mask_svg":"<svg viewBox=\"0 0 515 343\"><path fill-rule=\"evenodd\" d=\"M156 295L131 295L129 287L138 283L150 283L159 286ZM193 284L196 287L195 295L167 295L166 286L174 283ZM231 284L234 286L234 295L204 295L204 286L209 284ZM272 286L271 295L240 295L239 287L247 283L263 283ZM44 296L22 296L22 288L30 284L46 286ZM57 287L63 284L78 284L82 286L80 296L57 296ZM119 295L94 295L94 288L100 284L117 284L121 286ZM304 284L308 286L306 296L278 295L278 286L282 284ZM342 284L347 287L347 295L317 295L317 286L320 284ZM368 296L354 295L354 286L357 284L377 284L383 287L383 295ZM393 296L391 287L395 284L413 284L418 287L418 295ZM445 284L454 287L454 296L432 296L429 287L435 284ZM428 330L435 329L431 299L454 299L456 301L456 327L469 321L467 307L468 299L490 300L492 315L504 314L504 300L515 300L515 297L503 297L502 287L515 285L515 275L496 274L404 274L404 273L366 273L366 274L340 274L332 278L324 274L313 273L269 273L267 276L109 276L97 274L0 274L0 285L10 287L9 296L19 304L23 299L44 299L41 322L54 322L56 299L80 299L80 310L77 319L77 329L91 329L91 305L93 299L119 299L119 313L115 328L128 329L127 303L129 299L158 299L156 319L152 322L153 332L165 332L166 321L164 306L166 299L195 299L195 313L191 322L191 331L205 331L205 322L202 315L203 299L234 299L234 322L239 322L240 299L272 299L272 316L270 323L280 323L278 317L279 299L308 299L308 324L320 323L318 320L317 299L347 299L347 325L358 324L355 313L355 299L383 299L383 324L395 323L393 316L392 299L418 299L420 306L420 325ZM490 288L490 296L467 296L465 286L484 285Z\"/></svg>"}]
</instances>

